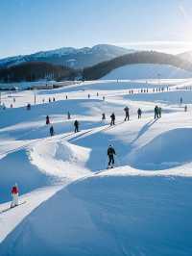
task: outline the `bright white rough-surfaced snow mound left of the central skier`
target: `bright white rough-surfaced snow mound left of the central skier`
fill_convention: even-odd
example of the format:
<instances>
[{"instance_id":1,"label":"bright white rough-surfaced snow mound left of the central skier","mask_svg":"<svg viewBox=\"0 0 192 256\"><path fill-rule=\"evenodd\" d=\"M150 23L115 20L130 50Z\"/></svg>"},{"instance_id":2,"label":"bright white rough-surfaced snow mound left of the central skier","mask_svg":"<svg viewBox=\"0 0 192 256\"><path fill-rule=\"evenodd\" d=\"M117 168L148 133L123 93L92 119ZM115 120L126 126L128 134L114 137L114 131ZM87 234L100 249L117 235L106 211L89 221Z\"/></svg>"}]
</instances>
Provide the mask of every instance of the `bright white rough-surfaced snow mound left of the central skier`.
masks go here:
<instances>
[{"instance_id":1,"label":"bright white rough-surfaced snow mound left of the central skier","mask_svg":"<svg viewBox=\"0 0 192 256\"><path fill-rule=\"evenodd\" d=\"M32 163L49 175L78 177L87 172L89 149L64 140L39 141L31 150Z\"/></svg>"}]
</instances>

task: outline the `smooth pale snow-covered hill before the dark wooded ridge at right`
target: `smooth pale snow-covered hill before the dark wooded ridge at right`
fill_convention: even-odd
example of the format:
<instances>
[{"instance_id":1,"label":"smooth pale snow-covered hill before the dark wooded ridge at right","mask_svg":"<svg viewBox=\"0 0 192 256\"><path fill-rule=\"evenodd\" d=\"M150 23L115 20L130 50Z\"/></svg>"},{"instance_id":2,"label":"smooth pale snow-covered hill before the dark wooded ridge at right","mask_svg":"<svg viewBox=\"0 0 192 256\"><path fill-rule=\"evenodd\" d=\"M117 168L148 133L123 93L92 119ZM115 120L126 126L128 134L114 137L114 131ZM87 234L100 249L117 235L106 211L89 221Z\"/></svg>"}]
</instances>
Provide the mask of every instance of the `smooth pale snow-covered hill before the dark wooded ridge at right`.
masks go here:
<instances>
[{"instance_id":1,"label":"smooth pale snow-covered hill before the dark wooded ridge at right","mask_svg":"<svg viewBox=\"0 0 192 256\"><path fill-rule=\"evenodd\" d=\"M168 64L127 64L110 71L102 79L180 79L191 78L192 72Z\"/></svg>"}]
</instances>

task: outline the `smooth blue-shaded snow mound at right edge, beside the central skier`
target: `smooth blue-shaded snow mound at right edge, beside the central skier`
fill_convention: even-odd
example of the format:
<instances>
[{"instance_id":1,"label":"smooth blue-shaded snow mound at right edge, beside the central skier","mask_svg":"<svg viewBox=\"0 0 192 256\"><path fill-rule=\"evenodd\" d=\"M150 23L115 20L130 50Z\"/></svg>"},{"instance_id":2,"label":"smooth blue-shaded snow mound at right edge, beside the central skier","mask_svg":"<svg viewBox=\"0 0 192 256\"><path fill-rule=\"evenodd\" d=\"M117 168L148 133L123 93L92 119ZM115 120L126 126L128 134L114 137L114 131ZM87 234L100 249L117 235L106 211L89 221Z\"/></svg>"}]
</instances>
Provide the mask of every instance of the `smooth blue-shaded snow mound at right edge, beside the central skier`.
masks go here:
<instances>
[{"instance_id":1,"label":"smooth blue-shaded snow mound at right edge, beside the central skier","mask_svg":"<svg viewBox=\"0 0 192 256\"><path fill-rule=\"evenodd\" d=\"M128 163L134 168L159 170L192 162L192 129L170 130L134 150Z\"/></svg>"}]
</instances>

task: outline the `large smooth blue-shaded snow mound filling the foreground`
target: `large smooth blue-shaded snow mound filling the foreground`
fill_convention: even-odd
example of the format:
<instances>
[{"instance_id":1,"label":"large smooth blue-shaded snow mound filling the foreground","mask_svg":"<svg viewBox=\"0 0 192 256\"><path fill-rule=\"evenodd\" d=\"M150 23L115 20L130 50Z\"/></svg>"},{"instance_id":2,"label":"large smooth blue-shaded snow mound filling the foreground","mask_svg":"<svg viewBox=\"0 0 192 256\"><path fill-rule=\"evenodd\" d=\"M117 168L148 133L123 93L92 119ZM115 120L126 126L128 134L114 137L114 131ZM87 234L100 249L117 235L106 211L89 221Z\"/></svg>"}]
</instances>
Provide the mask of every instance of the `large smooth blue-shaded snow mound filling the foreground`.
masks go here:
<instances>
[{"instance_id":1,"label":"large smooth blue-shaded snow mound filling the foreground","mask_svg":"<svg viewBox=\"0 0 192 256\"><path fill-rule=\"evenodd\" d=\"M25 218L1 255L191 255L190 188L189 178L95 175Z\"/></svg>"}]
</instances>

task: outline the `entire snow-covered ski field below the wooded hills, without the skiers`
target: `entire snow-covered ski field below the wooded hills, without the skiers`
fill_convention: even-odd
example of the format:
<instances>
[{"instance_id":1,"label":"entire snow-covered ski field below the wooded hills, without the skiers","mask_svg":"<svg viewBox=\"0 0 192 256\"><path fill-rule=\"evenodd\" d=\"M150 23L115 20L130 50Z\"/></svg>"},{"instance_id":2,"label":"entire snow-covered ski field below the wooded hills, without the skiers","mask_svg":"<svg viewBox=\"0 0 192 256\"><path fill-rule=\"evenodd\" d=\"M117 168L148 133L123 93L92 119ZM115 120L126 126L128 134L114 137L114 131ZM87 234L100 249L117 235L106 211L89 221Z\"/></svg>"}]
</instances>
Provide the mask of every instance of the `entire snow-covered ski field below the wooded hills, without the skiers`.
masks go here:
<instances>
[{"instance_id":1,"label":"entire snow-covered ski field below the wooded hills, without the skiers","mask_svg":"<svg viewBox=\"0 0 192 256\"><path fill-rule=\"evenodd\" d=\"M8 108L0 110L0 212L11 204L15 182L23 204L0 214L0 256L192 255L192 90L186 86L192 79L84 82L36 90L36 105L34 91L2 93ZM155 120L156 105L162 117ZM117 155L107 170L109 144Z\"/></svg>"}]
</instances>

